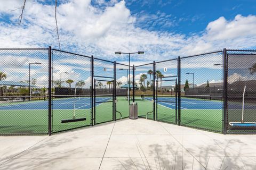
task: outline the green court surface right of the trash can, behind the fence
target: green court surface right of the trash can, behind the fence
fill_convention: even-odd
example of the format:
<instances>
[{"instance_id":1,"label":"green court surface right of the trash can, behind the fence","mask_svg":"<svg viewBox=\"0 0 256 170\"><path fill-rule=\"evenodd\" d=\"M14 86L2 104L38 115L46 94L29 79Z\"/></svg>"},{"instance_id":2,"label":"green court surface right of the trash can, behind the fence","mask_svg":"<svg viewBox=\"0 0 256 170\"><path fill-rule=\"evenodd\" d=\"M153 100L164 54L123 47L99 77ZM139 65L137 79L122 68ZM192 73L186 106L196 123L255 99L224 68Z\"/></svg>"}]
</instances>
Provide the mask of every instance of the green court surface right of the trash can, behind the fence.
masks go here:
<instances>
[{"instance_id":1,"label":"green court surface right of the trash can, behind the fence","mask_svg":"<svg viewBox=\"0 0 256 170\"><path fill-rule=\"evenodd\" d=\"M153 103L150 100L141 100L137 97L136 102L140 117L146 117L147 112L153 111ZM180 115L180 124L183 126L222 132L222 109L181 109ZM153 114L148 114L148 118L152 120ZM176 124L175 118L174 108L157 105L156 119L158 121Z\"/></svg>"}]
</instances>

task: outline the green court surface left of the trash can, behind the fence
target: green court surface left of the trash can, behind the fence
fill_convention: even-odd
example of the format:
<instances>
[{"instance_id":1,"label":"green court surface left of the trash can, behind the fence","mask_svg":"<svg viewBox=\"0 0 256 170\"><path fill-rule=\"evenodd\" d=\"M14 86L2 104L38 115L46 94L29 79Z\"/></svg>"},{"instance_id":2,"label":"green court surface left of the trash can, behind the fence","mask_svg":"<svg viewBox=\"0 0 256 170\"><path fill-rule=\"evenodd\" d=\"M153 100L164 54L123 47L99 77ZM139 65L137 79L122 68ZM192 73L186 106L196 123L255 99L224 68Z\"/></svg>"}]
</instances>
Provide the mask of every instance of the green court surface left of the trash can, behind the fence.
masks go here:
<instances>
[{"instance_id":1,"label":"green court surface left of the trash can, behind the fence","mask_svg":"<svg viewBox=\"0 0 256 170\"><path fill-rule=\"evenodd\" d=\"M117 101L117 111L121 112L122 118L129 117L128 101L125 100L125 97L117 97ZM0 104L0 108L2 107L0 109L0 134L47 134L49 126L47 102L24 101ZM28 104L33 105L35 109L22 109ZM44 105L44 109L36 109L39 104ZM65 109L65 106L63 109L52 109L52 132L91 125L90 108L76 109L75 111L76 118L86 117L86 121L61 123L61 120L73 118L73 112L73 109ZM121 115L117 113L116 118L120 119ZM95 107L96 124L113 120L113 103L101 103Z\"/></svg>"}]
</instances>

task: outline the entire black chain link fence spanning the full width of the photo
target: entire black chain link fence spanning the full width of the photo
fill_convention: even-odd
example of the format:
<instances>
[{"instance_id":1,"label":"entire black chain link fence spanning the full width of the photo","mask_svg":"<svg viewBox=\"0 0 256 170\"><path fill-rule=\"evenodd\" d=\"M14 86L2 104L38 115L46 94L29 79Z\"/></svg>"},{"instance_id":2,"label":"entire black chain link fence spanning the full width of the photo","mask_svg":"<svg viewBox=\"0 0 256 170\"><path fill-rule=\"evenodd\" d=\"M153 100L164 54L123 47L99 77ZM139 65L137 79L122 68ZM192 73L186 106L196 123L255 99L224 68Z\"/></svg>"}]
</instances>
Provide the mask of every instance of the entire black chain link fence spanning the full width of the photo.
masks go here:
<instances>
[{"instance_id":1,"label":"entire black chain link fence spanning the full width of the photo","mask_svg":"<svg viewBox=\"0 0 256 170\"><path fill-rule=\"evenodd\" d=\"M255 50L138 66L51 47L0 49L0 55L1 135L51 135L116 121L129 117L133 102L139 117L150 120L224 134L256 132Z\"/></svg>"}]
</instances>

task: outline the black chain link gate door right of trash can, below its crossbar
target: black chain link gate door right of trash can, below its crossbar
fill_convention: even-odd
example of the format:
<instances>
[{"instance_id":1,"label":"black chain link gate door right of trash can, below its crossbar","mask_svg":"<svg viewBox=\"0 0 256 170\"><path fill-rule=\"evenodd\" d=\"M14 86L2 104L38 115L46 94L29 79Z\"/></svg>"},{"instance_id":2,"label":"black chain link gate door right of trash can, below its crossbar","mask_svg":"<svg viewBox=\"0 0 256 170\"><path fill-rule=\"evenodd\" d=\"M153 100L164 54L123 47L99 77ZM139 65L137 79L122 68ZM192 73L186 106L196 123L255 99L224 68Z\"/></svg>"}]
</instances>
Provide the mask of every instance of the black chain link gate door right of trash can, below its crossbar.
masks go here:
<instances>
[{"instance_id":1,"label":"black chain link gate door right of trash can, below its crossbar","mask_svg":"<svg viewBox=\"0 0 256 170\"><path fill-rule=\"evenodd\" d=\"M156 120L177 124L178 83L177 76L156 78ZM162 88L162 84L164 87ZM168 87L168 89L166 89ZM166 92L168 94L166 94Z\"/></svg>"}]
</instances>

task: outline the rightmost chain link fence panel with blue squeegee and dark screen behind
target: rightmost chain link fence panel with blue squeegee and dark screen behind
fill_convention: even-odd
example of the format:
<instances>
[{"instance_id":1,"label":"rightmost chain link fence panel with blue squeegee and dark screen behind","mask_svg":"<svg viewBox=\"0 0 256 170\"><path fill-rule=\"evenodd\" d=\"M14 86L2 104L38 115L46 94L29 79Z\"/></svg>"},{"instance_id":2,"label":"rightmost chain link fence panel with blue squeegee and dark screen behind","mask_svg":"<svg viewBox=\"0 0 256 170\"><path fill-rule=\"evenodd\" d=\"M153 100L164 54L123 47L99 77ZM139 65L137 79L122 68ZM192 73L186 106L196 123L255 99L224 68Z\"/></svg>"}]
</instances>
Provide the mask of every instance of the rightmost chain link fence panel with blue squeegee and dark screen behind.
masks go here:
<instances>
[{"instance_id":1,"label":"rightmost chain link fence panel with blue squeegee and dark screen behind","mask_svg":"<svg viewBox=\"0 0 256 170\"><path fill-rule=\"evenodd\" d=\"M256 50L227 50L226 71L227 133L255 133Z\"/></svg>"}]
</instances>

